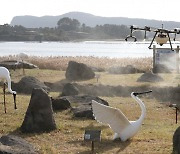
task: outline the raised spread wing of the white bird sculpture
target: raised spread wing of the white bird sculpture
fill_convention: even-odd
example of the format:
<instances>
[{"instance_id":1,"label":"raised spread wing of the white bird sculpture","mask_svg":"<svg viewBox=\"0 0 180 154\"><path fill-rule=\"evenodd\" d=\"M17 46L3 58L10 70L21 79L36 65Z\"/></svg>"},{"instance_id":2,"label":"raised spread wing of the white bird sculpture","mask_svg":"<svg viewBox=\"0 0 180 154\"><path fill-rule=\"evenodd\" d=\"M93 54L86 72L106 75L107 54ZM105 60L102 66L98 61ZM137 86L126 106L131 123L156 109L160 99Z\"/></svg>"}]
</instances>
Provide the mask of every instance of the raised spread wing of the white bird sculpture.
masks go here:
<instances>
[{"instance_id":1,"label":"raised spread wing of the white bird sculpture","mask_svg":"<svg viewBox=\"0 0 180 154\"><path fill-rule=\"evenodd\" d=\"M108 124L116 133L121 132L130 125L129 120L119 109L92 100L92 110L94 117L98 122Z\"/></svg>"}]
</instances>

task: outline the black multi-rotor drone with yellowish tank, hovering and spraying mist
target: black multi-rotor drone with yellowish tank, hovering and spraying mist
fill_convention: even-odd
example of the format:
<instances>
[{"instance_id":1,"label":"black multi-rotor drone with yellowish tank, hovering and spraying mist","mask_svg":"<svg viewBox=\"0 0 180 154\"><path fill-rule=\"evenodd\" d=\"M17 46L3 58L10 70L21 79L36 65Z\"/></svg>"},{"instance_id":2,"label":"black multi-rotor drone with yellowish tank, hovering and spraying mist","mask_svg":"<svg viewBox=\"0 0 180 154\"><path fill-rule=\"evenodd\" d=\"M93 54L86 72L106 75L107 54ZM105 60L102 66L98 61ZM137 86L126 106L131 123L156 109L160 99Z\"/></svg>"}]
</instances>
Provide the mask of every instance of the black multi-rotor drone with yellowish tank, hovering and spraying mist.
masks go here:
<instances>
[{"instance_id":1,"label":"black multi-rotor drone with yellowish tank, hovering and spraying mist","mask_svg":"<svg viewBox=\"0 0 180 154\"><path fill-rule=\"evenodd\" d=\"M151 46L154 42L154 40L157 42L157 44L159 44L160 46L162 46L163 44L166 44L167 41L169 41L171 50L173 50L172 48L172 43L171 43L171 38L169 34L174 34L174 41L176 40L176 34L180 34L180 28L175 28L174 30L167 30L163 28L163 24L162 24L162 28L158 28L158 29L154 29L148 26L145 26L144 28L139 28L137 26L131 25L130 26L130 35L128 35L125 40L128 41L129 38L133 38L134 42L137 41L137 38L135 36L133 36L133 32L137 31L137 30L143 30L145 31L144 33L144 39L146 39L146 34L147 32L154 32L154 37L149 45L149 49L152 49Z\"/></svg>"}]
</instances>

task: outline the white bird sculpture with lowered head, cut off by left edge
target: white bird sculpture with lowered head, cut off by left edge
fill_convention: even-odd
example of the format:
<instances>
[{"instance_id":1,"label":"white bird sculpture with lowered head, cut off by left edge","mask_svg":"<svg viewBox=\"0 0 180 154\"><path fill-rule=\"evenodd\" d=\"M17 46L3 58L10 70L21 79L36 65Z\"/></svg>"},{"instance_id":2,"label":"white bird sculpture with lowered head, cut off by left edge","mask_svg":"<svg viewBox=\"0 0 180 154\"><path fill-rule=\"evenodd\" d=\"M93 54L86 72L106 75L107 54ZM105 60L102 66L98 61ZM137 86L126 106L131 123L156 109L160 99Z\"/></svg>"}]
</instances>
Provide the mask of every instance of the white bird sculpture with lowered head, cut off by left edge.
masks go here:
<instances>
[{"instance_id":1,"label":"white bird sculpture with lowered head, cut off by left edge","mask_svg":"<svg viewBox=\"0 0 180 154\"><path fill-rule=\"evenodd\" d=\"M3 92L4 92L4 110L6 113L6 102L5 102L5 82L8 83L8 91L13 94L14 97L14 109L17 109L16 107L16 91L13 91L11 89L11 77L9 70L5 67L0 67L0 79L4 82Z\"/></svg>"}]
</instances>

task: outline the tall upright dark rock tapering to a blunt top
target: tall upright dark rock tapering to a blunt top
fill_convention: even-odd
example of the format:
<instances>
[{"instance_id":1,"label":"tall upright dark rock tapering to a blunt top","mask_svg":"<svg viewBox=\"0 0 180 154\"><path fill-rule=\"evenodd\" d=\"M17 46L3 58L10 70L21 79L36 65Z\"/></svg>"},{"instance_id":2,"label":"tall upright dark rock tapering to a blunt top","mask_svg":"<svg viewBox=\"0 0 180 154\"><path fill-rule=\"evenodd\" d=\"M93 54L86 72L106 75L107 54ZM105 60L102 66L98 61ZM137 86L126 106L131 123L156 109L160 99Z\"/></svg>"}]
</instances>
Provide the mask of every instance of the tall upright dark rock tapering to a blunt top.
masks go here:
<instances>
[{"instance_id":1,"label":"tall upright dark rock tapering to a blunt top","mask_svg":"<svg viewBox=\"0 0 180 154\"><path fill-rule=\"evenodd\" d=\"M22 132L44 132L56 129L51 98L43 89L33 89L21 126Z\"/></svg>"}]
</instances>

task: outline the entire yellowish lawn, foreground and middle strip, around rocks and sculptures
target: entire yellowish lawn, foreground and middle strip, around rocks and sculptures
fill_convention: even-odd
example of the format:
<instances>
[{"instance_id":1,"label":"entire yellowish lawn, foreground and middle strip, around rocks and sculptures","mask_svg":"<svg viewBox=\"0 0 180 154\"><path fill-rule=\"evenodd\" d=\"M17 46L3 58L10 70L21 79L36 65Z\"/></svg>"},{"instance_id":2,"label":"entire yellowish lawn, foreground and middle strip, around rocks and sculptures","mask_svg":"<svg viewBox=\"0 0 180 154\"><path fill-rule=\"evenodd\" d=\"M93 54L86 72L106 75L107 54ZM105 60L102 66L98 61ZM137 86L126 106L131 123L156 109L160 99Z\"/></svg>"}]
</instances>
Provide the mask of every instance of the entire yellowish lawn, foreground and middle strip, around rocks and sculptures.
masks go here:
<instances>
[{"instance_id":1,"label":"entire yellowish lawn, foreground and middle strip, around rocks and sculptures","mask_svg":"<svg viewBox=\"0 0 180 154\"><path fill-rule=\"evenodd\" d=\"M130 62L128 62L128 64L129 63ZM103 66L100 62L99 65ZM94 66L99 67L99 65ZM149 65L151 64L149 63ZM144 68L150 68L149 65L144 66ZM25 75L34 76L40 81L56 82L65 79L65 68L64 65L62 68L59 67L53 70L49 68L25 70ZM92 79L79 83L124 86L138 86L144 84L150 87L162 87L165 85L177 86L180 81L180 77L177 74L173 76L170 74L161 74L164 81L158 84L137 83L137 78L142 75L140 73L113 75L107 72L100 72L99 74L99 82L97 82L96 79ZM22 70L11 71L11 76L14 82L18 82L23 77ZM91 143L83 140L84 131L86 129L102 130L101 142L95 142L96 153L169 154L172 153L172 137L174 131L179 126L179 124L175 124L175 110L153 97L142 97L147 108L146 118L138 134L126 142L113 141L113 132L108 126L100 124L95 120L74 118L70 110L54 113L57 124L56 130L49 133L23 134L19 131L19 127L24 120L31 96L17 94L18 110L14 110L13 97L8 94L7 114L5 114L2 105L2 89L0 89L0 95L0 135L15 134L23 137L35 145L39 153L42 154L91 153ZM50 92L49 95L56 97L59 95L59 92ZM140 107L131 97L99 97L108 101L110 106L120 108L130 120L135 120L140 116Z\"/></svg>"}]
</instances>

